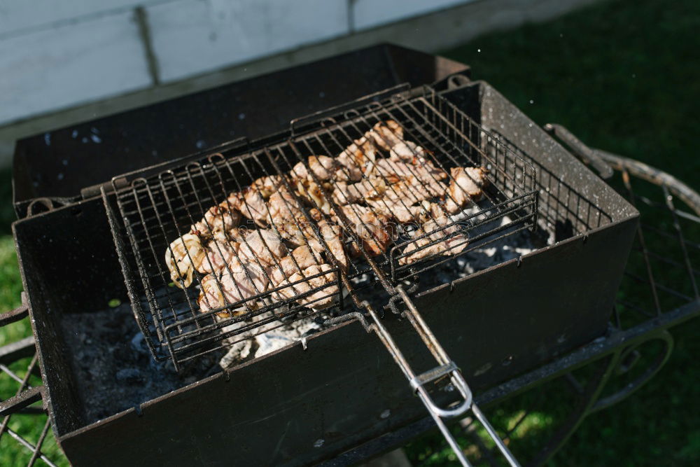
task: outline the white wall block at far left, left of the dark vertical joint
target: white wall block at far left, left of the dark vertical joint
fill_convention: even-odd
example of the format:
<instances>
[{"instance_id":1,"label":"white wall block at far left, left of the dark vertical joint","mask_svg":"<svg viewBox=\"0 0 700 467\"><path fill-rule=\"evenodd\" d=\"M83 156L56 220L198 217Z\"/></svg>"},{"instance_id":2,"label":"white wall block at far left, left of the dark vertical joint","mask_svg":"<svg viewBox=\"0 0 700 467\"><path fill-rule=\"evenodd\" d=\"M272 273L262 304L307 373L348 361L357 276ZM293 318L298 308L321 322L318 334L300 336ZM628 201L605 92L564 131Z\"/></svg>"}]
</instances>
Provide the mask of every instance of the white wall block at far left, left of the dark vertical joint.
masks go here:
<instances>
[{"instance_id":1,"label":"white wall block at far left, left of the dark vertical joint","mask_svg":"<svg viewBox=\"0 0 700 467\"><path fill-rule=\"evenodd\" d=\"M149 85L130 11L0 41L0 124Z\"/></svg>"}]
</instances>

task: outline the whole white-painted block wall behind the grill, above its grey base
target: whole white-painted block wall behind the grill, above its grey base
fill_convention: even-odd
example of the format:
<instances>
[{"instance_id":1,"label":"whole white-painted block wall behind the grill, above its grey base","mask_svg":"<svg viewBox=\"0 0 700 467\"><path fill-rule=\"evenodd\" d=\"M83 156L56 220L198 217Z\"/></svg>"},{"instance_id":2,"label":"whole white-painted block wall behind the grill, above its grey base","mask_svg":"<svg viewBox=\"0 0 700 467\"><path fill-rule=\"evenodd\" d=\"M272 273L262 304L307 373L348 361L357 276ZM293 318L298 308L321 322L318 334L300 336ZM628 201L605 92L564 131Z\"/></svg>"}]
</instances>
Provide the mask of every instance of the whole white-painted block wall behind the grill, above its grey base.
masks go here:
<instances>
[{"instance_id":1,"label":"whole white-painted block wall behind the grill, above its grey base","mask_svg":"<svg viewBox=\"0 0 700 467\"><path fill-rule=\"evenodd\" d=\"M0 127L471 1L0 0Z\"/></svg>"}]
</instances>

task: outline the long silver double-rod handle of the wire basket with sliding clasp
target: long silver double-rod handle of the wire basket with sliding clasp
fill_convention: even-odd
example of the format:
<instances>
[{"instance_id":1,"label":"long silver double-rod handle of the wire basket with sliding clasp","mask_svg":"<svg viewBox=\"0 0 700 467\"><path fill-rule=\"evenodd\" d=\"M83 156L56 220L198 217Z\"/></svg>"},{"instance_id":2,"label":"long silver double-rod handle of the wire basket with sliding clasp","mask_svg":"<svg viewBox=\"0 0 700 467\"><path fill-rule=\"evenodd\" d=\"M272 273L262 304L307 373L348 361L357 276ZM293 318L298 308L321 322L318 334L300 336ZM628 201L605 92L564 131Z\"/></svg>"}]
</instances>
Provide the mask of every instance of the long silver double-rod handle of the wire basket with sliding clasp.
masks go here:
<instances>
[{"instance_id":1,"label":"long silver double-rod handle of the wire basket with sliding clasp","mask_svg":"<svg viewBox=\"0 0 700 467\"><path fill-rule=\"evenodd\" d=\"M367 301L365 301L362 305L363 307L365 307L365 309L367 309L367 313L372 318L372 321L374 321L370 328L371 330L374 330L375 333L377 333L377 335L379 336L379 340L381 340L381 342L384 344L384 347L386 347L386 349L389 351L394 361L398 364L399 368L401 369L405 377L408 379L412 389L414 389L416 394L421 399L423 405L425 405L428 409L430 417L433 417L437 428L440 428L442 435L444 436L445 440L447 440L447 443L449 444L451 449L454 451L454 454L457 456L457 459L459 459L460 463L463 466L471 465L467 460L466 456L464 455L461 447L459 447L457 441L454 439L454 436L449 431L449 428L447 428L447 424L445 424L444 419L459 417L465 414L465 412L467 412L468 410L471 410L477 418L477 420L479 420L482 426L484 426L486 432L489 433L489 436L491 437L493 442L496 443L498 450L500 450L501 454L503 454L508 463L511 466L519 466L518 461L511 454L510 450L508 450L508 448L505 446L503 440L500 439L500 436L498 436L496 430L493 429L493 426L491 426L488 419L486 419L486 417L484 416L483 412L479 410L479 407L477 407L477 405L474 403L474 400L472 398L472 391L469 388L469 385L465 381L460 370L458 369L456 363L454 363L454 361L451 361L449 356L447 356L447 352L444 351L442 345L440 345L440 342L437 341L437 338L435 337L435 335L433 335L433 331L430 330L428 324L425 321L423 321L423 317L418 312L418 309L414 305L409 295L402 288L402 286L396 286L395 291L397 293L396 296L400 298L407 306L407 310L406 312L404 312L404 316L406 316L411 325L414 327L418 335L421 337L421 340L423 340L423 343L426 344L426 347L428 347L430 354L433 354L433 357L437 361L438 366L436 368L433 368L432 370L423 372L420 375L416 375L411 366L409 365L408 361L406 360L405 356L403 355L402 351L400 351L400 349L396 345L396 342L393 340L393 337L391 337L391 333L388 332L388 330L384 326L384 323L382 323L379 319L377 312L375 312L372 306ZM456 405L455 407L443 409L442 407L438 407L433 398L430 397L430 394L428 393L428 390L426 389L425 385L428 382L435 381L436 379L440 379L442 377L447 377L448 375L451 384L457 389L463 400L460 403L458 403L458 405Z\"/></svg>"}]
</instances>

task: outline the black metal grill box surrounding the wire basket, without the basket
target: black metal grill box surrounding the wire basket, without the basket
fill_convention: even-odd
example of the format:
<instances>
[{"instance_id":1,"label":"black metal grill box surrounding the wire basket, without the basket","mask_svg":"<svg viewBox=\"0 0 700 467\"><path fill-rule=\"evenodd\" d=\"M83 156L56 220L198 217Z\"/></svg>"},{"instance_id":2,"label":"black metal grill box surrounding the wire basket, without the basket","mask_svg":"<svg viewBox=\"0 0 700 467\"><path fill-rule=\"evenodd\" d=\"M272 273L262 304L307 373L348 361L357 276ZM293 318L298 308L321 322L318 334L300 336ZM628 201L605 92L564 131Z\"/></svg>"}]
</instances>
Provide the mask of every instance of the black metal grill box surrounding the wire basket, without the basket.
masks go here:
<instances>
[{"instance_id":1,"label":"black metal grill box surrounding the wire basket, without the basket","mask_svg":"<svg viewBox=\"0 0 700 467\"><path fill-rule=\"evenodd\" d=\"M201 379L167 375L165 390L144 389L137 404L120 397L128 372L106 369L151 358L105 347L85 361L84 348L96 343L78 332L131 340L135 331L114 325L122 319L137 330L99 194L113 176L239 137L283 137L293 118L401 83L432 85L535 167L538 228L555 239L416 296L472 389L605 333L637 211L468 76L442 57L375 46L18 141L13 233L52 428L71 463L92 465L99 453L101 465L299 465L424 416L391 356L357 321L312 335L305 349L293 344ZM109 307L113 299L122 305ZM409 328L391 317L386 326L412 361L428 361Z\"/></svg>"}]
</instances>

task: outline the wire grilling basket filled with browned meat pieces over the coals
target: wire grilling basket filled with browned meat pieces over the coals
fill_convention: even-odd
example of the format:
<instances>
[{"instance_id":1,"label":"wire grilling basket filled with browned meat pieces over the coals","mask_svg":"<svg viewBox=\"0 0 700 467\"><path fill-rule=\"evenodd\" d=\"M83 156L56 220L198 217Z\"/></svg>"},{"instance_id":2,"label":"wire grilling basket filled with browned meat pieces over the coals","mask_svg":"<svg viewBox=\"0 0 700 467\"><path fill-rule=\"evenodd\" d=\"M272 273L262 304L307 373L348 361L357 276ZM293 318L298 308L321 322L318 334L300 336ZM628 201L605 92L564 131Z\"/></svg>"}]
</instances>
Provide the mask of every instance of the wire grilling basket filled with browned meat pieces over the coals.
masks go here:
<instances>
[{"instance_id":1,"label":"wire grilling basket filled with browned meat pieces over the coals","mask_svg":"<svg viewBox=\"0 0 700 467\"><path fill-rule=\"evenodd\" d=\"M402 153L390 151L397 144ZM321 309L342 312L344 293L358 305L354 277L369 272L388 288L387 276L414 276L532 228L534 177L424 89L324 118L279 144L116 186L118 216L105 200L137 321L154 355L177 367ZM479 187L478 203L464 183ZM298 249L312 260L302 266ZM171 274L166 263L178 254L188 269ZM215 263L218 274L203 274Z\"/></svg>"}]
</instances>

